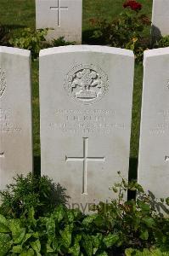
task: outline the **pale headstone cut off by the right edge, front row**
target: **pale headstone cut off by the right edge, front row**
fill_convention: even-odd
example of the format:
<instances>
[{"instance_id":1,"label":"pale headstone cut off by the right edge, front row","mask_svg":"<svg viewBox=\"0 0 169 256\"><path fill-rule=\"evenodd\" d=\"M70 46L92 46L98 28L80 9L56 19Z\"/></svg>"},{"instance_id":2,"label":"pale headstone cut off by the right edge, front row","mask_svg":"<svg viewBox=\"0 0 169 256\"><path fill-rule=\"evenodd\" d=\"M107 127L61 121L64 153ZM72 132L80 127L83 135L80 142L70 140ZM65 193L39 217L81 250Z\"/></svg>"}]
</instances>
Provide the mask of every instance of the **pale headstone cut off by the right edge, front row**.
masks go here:
<instances>
[{"instance_id":1,"label":"pale headstone cut off by the right edge, front row","mask_svg":"<svg viewBox=\"0 0 169 256\"><path fill-rule=\"evenodd\" d=\"M169 195L169 48L144 52L138 183L157 198Z\"/></svg>"}]
</instances>

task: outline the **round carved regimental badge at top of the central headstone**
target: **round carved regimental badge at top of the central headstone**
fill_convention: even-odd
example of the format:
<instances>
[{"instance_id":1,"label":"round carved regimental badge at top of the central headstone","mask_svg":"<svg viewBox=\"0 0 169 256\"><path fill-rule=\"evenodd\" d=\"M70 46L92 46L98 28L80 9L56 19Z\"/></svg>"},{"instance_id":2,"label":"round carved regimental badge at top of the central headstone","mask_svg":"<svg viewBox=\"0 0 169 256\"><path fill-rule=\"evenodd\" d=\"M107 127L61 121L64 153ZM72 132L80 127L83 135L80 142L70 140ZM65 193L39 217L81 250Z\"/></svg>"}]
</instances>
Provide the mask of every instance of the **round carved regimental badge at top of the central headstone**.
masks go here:
<instances>
[{"instance_id":1,"label":"round carved regimental badge at top of the central headstone","mask_svg":"<svg viewBox=\"0 0 169 256\"><path fill-rule=\"evenodd\" d=\"M98 102L108 89L108 76L93 64L74 67L65 79L65 90L70 98L85 105Z\"/></svg>"}]
</instances>

